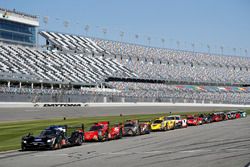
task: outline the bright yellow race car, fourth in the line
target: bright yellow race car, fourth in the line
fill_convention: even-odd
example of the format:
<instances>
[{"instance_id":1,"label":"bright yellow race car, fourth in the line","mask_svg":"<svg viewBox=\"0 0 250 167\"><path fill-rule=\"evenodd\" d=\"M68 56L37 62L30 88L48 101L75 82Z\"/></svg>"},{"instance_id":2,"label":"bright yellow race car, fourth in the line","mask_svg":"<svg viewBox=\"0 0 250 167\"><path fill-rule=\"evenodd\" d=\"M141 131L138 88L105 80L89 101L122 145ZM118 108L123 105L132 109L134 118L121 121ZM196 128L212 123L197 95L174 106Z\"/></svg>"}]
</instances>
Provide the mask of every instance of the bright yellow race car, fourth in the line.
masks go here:
<instances>
[{"instance_id":1,"label":"bright yellow race car, fourth in the line","mask_svg":"<svg viewBox=\"0 0 250 167\"><path fill-rule=\"evenodd\" d=\"M175 122L167 120L166 117L159 117L157 118L152 124L151 124L151 130L152 131L159 131L159 130L171 130L174 129Z\"/></svg>"}]
</instances>

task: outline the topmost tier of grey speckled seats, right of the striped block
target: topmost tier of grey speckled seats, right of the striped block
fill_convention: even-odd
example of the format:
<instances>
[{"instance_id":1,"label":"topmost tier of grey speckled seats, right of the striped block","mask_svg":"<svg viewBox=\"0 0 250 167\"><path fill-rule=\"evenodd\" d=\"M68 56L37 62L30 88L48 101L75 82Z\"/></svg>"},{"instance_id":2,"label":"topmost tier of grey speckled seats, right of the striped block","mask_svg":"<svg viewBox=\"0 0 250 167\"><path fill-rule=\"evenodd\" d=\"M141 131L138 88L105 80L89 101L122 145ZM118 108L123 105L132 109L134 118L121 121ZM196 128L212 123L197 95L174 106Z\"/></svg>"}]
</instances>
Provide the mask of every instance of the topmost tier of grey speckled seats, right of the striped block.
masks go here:
<instances>
[{"instance_id":1,"label":"topmost tier of grey speckled seats, right of the striped block","mask_svg":"<svg viewBox=\"0 0 250 167\"><path fill-rule=\"evenodd\" d=\"M118 41L93 38L99 46L110 53L162 60L162 62L181 62L198 65L249 67L250 59L247 57L221 56L208 53L179 51L163 48L148 47Z\"/></svg>"}]
</instances>

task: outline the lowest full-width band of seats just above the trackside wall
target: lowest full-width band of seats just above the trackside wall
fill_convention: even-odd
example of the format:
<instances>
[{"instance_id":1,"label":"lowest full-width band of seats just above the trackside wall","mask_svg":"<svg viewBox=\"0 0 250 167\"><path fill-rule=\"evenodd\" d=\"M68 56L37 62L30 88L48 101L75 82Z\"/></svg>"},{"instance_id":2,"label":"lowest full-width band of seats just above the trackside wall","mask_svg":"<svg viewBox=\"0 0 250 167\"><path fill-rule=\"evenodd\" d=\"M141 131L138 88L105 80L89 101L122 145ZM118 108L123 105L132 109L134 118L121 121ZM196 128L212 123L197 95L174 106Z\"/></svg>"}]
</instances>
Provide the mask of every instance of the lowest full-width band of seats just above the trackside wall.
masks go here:
<instances>
[{"instance_id":1,"label":"lowest full-width band of seats just above the trackside wall","mask_svg":"<svg viewBox=\"0 0 250 167\"><path fill-rule=\"evenodd\" d=\"M180 102L194 102L204 101L206 103L235 103L235 104L249 104L250 93L242 91L197 91L180 89L178 86L165 84L145 84L145 83L125 83L113 82L114 89L31 89L31 88L17 88L17 87L0 87L0 94L29 94L29 95L52 95L52 96L69 96L69 95L88 95L91 97L124 97L135 99L151 99L161 101L175 102L175 99L180 99ZM167 99L167 100L166 100Z\"/></svg>"}]
</instances>

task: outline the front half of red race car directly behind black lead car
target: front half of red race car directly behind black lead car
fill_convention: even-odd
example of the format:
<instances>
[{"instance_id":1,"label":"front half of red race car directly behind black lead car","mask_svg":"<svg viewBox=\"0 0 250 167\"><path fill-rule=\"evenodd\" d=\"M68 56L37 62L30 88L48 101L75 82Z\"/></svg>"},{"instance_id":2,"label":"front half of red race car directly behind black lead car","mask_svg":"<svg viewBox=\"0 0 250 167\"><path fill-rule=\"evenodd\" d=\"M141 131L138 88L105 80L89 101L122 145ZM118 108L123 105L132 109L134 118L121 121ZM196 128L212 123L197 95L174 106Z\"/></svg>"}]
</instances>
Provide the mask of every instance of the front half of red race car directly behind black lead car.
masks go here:
<instances>
[{"instance_id":1,"label":"front half of red race car directly behind black lead car","mask_svg":"<svg viewBox=\"0 0 250 167\"><path fill-rule=\"evenodd\" d=\"M84 132L85 141L107 141L110 138L108 121L94 123L89 131Z\"/></svg>"}]
</instances>

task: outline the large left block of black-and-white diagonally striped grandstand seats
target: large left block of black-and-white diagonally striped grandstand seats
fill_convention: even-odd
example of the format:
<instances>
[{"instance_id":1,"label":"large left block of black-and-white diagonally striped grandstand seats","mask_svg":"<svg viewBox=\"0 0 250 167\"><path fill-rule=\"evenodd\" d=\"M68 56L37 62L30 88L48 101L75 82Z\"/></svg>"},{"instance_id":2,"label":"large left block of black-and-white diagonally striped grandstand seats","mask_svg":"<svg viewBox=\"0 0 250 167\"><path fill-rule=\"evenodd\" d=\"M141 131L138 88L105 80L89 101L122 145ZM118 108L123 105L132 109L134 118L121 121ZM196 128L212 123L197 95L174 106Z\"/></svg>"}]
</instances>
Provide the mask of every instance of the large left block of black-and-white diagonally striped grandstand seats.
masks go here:
<instances>
[{"instance_id":1,"label":"large left block of black-and-white diagonally striped grandstand seats","mask_svg":"<svg viewBox=\"0 0 250 167\"><path fill-rule=\"evenodd\" d=\"M96 84L108 76L135 77L115 60L91 54L44 52L35 48L0 45L0 72L34 76L43 82Z\"/></svg>"}]
</instances>

